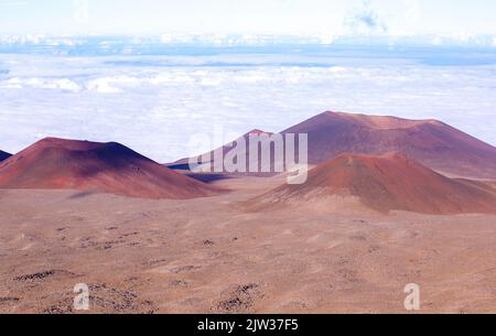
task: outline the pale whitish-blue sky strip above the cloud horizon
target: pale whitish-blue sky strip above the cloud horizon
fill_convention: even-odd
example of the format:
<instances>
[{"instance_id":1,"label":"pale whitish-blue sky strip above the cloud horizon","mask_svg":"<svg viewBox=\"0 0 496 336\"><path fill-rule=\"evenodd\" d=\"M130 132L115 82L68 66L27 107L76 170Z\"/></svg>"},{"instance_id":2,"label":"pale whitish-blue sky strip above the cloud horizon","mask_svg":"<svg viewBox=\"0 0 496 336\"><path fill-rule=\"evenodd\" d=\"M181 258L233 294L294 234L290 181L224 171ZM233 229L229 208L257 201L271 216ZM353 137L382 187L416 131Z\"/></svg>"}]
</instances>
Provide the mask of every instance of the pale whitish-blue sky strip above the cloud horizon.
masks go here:
<instances>
[{"instance_id":1,"label":"pale whitish-blue sky strip above the cloud horizon","mask_svg":"<svg viewBox=\"0 0 496 336\"><path fill-rule=\"evenodd\" d=\"M0 34L496 34L494 0L0 0Z\"/></svg>"}]
</instances>

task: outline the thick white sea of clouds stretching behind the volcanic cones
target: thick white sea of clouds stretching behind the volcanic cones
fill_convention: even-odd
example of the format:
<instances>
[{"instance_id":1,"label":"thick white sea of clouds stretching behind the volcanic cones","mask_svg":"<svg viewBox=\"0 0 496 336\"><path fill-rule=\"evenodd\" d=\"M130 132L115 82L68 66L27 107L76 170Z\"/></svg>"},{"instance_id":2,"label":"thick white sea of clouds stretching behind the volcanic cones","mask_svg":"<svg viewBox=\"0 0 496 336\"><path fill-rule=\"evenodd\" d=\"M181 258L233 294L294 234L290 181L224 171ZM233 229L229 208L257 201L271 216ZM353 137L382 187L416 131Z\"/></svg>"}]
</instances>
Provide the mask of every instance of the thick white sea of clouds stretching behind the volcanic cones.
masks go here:
<instances>
[{"instance_id":1,"label":"thick white sea of clouds stretching behind the volcanic cones","mask_svg":"<svg viewBox=\"0 0 496 336\"><path fill-rule=\"evenodd\" d=\"M0 149L118 141L160 162L222 128L280 131L325 110L441 119L496 144L496 54L299 47L171 55L0 54Z\"/></svg>"}]
</instances>

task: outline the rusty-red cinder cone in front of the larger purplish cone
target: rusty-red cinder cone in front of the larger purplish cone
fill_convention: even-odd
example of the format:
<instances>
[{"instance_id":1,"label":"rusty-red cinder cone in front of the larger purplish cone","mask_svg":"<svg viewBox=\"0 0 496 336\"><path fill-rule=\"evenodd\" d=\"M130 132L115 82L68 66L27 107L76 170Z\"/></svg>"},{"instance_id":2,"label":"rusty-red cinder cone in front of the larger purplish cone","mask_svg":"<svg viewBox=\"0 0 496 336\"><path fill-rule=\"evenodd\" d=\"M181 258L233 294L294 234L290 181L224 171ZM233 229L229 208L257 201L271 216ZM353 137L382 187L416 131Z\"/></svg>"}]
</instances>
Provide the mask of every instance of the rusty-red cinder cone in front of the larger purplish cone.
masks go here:
<instances>
[{"instance_id":1,"label":"rusty-red cinder cone in front of the larger purplish cone","mask_svg":"<svg viewBox=\"0 0 496 336\"><path fill-rule=\"evenodd\" d=\"M400 154L342 154L312 170L305 184L283 185L254 202L319 204L327 196L352 196L380 213L496 214L496 189L488 184L448 178Z\"/></svg>"}]
</instances>

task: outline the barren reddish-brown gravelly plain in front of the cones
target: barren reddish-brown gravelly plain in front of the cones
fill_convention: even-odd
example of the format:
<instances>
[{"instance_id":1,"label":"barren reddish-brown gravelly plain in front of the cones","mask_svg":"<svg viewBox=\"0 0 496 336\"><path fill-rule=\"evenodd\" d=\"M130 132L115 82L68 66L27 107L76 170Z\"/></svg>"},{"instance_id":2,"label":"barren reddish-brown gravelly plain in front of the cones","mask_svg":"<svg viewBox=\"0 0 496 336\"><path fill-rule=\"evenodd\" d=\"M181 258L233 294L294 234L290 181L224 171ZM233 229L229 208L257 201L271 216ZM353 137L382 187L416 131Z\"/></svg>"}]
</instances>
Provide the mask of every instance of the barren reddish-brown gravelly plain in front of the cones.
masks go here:
<instances>
[{"instance_id":1,"label":"barren reddish-brown gravelly plain in front of the cones","mask_svg":"<svg viewBox=\"0 0 496 336\"><path fill-rule=\"evenodd\" d=\"M231 194L144 200L0 191L0 313L496 312L496 216L389 216L299 208L248 213L278 178Z\"/></svg>"}]
</instances>

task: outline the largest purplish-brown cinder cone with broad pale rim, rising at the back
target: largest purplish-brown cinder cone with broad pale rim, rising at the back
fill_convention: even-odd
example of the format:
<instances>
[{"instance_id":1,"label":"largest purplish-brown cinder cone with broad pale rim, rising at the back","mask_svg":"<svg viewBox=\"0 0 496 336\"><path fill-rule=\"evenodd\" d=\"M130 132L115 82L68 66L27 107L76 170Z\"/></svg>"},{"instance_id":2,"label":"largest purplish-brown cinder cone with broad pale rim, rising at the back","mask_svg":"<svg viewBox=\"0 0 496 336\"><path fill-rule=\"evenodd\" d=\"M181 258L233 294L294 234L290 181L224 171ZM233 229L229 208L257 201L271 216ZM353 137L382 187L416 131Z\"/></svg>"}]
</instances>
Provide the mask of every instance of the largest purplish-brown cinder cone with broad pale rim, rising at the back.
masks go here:
<instances>
[{"instance_id":1,"label":"largest purplish-brown cinder cone with broad pale rim, rising at the back","mask_svg":"<svg viewBox=\"0 0 496 336\"><path fill-rule=\"evenodd\" d=\"M309 161L400 152L454 176L496 178L496 148L436 120L324 112L282 133L309 133Z\"/></svg>"}]
</instances>

